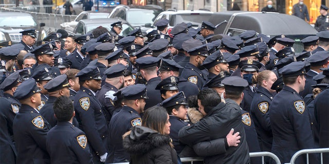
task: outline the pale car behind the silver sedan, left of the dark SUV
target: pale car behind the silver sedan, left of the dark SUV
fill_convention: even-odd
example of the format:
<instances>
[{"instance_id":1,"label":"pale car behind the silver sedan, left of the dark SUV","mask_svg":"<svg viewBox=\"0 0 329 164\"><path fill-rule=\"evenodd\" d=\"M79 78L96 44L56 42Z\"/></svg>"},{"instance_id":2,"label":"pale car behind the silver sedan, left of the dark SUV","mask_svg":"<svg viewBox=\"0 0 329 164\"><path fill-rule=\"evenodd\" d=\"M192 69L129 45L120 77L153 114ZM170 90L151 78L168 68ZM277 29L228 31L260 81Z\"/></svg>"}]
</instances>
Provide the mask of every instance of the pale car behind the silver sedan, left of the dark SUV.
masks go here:
<instances>
[{"instance_id":1,"label":"pale car behind the silver sedan, left of the dark SUV","mask_svg":"<svg viewBox=\"0 0 329 164\"><path fill-rule=\"evenodd\" d=\"M72 31L82 19L95 19L95 18L107 18L109 13L95 12L95 11L82 11L76 19L71 22L62 23L61 29Z\"/></svg>"}]
</instances>

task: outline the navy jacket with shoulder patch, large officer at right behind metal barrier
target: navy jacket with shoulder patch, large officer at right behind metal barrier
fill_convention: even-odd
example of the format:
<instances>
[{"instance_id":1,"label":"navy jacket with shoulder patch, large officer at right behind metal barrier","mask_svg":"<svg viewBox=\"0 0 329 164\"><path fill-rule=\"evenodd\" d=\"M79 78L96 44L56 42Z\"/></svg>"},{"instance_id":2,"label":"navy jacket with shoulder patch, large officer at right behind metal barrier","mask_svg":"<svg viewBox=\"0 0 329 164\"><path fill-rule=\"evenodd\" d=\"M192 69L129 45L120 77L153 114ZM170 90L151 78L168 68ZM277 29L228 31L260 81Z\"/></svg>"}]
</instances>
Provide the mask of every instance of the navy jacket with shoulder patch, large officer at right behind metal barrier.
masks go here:
<instances>
[{"instance_id":1,"label":"navy jacket with shoulder patch, large officer at right behind metal barrier","mask_svg":"<svg viewBox=\"0 0 329 164\"><path fill-rule=\"evenodd\" d=\"M269 119L273 133L272 153L282 163L289 162L301 149L314 148L308 110L303 98L293 88L284 86L273 98ZM295 163L306 163L305 159L305 156L297 158ZM310 163L317 162L315 154L309 154L309 159Z\"/></svg>"}]
</instances>

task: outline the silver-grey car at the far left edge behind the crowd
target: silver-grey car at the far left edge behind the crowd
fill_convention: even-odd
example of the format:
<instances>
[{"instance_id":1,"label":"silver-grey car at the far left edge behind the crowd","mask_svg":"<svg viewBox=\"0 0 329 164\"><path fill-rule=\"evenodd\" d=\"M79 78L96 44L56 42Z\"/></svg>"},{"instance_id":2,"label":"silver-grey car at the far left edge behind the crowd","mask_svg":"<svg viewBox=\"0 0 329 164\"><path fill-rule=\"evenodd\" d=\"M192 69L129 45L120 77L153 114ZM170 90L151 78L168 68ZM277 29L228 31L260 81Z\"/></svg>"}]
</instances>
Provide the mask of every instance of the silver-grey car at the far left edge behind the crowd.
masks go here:
<instances>
[{"instance_id":1,"label":"silver-grey car at the far left edge behind the crowd","mask_svg":"<svg viewBox=\"0 0 329 164\"><path fill-rule=\"evenodd\" d=\"M20 43L22 33L25 29L36 29L36 45L46 37L44 23L36 23L36 20L29 13L24 12L0 12L0 42L11 40L13 44Z\"/></svg>"}]
</instances>

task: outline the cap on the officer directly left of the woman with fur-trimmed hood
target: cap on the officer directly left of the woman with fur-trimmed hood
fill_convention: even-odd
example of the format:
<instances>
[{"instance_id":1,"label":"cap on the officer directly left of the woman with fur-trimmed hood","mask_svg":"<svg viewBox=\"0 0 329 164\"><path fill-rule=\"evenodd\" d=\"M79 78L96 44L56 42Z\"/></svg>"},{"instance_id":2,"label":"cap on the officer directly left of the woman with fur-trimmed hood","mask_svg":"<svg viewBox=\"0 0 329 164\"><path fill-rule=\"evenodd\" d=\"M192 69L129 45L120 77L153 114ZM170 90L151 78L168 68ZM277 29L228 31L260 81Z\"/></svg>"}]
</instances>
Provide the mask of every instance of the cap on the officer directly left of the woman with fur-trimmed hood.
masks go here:
<instances>
[{"instance_id":1,"label":"cap on the officer directly left of the woman with fur-trimmed hood","mask_svg":"<svg viewBox=\"0 0 329 164\"><path fill-rule=\"evenodd\" d=\"M124 99L148 99L147 90L145 85L143 84L136 84L132 86L125 87L126 89L123 89L121 91L121 94Z\"/></svg>"}]
</instances>

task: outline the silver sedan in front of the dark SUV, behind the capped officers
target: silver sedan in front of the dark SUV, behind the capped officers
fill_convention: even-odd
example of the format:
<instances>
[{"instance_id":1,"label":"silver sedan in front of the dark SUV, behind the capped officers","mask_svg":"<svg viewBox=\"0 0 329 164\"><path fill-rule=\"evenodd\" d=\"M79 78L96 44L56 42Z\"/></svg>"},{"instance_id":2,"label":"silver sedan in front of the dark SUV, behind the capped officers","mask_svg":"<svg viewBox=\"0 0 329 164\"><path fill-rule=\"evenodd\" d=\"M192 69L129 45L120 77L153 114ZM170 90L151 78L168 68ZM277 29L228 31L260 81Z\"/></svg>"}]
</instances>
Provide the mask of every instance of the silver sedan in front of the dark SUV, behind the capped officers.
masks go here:
<instances>
[{"instance_id":1,"label":"silver sedan in front of the dark SUV, behind the capped officers","mask_svg":"<svg viewBox=\"0 0 329 164\"><path fill-rule=\"evenodd\" d=\"M111 24L121 21L122 22L122 31L121 36L126 36L130 31L134 30L134 27L122 19L115 18L97 18L97 19L82 19L79 21L78 25L73 31L67 31L69 34L86 34L92 32L93 29L102 26L111 30Z\"/></svg>"}]
</instances>

